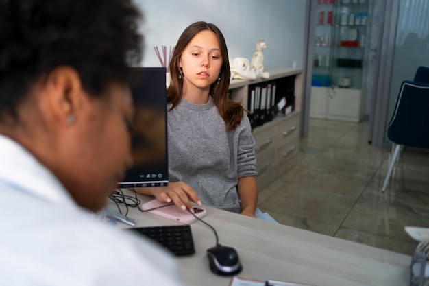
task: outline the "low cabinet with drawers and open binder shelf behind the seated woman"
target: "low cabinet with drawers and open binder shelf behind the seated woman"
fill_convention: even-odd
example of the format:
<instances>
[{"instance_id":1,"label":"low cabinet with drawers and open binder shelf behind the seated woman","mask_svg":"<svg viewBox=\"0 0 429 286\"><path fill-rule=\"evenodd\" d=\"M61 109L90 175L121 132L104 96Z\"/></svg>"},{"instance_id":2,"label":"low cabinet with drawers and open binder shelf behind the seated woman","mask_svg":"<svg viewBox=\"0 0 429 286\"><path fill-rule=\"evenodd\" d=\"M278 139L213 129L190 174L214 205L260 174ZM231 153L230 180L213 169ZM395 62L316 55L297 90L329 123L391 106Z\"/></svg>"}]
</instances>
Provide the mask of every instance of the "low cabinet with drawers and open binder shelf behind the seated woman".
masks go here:
<instances>
[{"instance_id":1,"label":"low cabinet with drawers and open binder shelf behind the seated woman","mask_svg":"<svg viewBox=\"0 0 429 286\"><path fill-rule=\"evenodd\" d=\"M266 121L252 130L256 142L254 149L258 162L257 182L260 190L265 189L273 180L297 164L304 78L302 69L268 67L265 71L269 73L269 78L231 80L229 88L231 99L240 102L245 109L249 109L249 91L254 90L256 86L263 87L265 83L275 82L276 103L282 97L287 98L290 95L293 97L294 105L291 107L294 106L294 108L291 108L289 113L285 112L286 116L273 117L273 120Z\"/></svg>"}]
</instances>

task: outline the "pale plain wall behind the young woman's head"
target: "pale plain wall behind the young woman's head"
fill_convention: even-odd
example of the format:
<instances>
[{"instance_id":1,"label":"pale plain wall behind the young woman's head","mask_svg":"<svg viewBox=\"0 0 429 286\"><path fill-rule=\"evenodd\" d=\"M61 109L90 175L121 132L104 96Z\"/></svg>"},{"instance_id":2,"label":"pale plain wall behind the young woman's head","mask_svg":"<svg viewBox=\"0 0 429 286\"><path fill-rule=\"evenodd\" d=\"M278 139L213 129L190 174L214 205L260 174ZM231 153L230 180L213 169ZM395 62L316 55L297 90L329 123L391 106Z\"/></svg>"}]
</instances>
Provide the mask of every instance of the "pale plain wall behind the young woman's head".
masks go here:
<instances>
[{"instance_id":1,"label":"pale plain wall behind the young woman's head","mask_svg":"<svg viewBox=\"0 0 429 286\"><path fill-rule=\"evenodd\" d=\"M143 67L159 67L154 46L173 46L195 21L221 29L230 58L249 60L265 40L265 67L303 66L306 1L303 0L134 0L145 16Z\"/></svg>"}]
</instances>

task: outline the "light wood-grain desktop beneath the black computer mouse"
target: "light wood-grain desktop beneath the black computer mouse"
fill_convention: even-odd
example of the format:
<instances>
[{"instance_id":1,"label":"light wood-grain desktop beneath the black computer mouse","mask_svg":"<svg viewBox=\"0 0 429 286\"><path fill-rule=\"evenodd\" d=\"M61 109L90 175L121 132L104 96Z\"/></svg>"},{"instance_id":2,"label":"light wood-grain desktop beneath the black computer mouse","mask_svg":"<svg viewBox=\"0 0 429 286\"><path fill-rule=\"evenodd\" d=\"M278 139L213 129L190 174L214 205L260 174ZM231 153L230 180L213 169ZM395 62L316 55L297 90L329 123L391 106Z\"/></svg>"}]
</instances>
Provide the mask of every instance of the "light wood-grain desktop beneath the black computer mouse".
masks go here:
<instances>
[{"instance_id":1,"label":"light wood-grain desktop beneath the black computer mouse","mask_svg":"<svg viewBox=\"0 0 429 286\"><path fill-rule=\"evenodd\" d=\"M147 202L151 197L138 195ZM117 211L110 202L108 208ZM308 283L317 286L409 285L411 257L337 239L308 230L265 222L236 213L204 207L204 221L219 235L219 243L236 248L243 265L238 276ZM177 224L130 208L136 226ZM128 227L118 223L118 227ZM206 250L215 234L202 222L191 224L195 254L177 258L184 285L228 286L230 277L210 272Z\"/></svg>"}]
</instances>

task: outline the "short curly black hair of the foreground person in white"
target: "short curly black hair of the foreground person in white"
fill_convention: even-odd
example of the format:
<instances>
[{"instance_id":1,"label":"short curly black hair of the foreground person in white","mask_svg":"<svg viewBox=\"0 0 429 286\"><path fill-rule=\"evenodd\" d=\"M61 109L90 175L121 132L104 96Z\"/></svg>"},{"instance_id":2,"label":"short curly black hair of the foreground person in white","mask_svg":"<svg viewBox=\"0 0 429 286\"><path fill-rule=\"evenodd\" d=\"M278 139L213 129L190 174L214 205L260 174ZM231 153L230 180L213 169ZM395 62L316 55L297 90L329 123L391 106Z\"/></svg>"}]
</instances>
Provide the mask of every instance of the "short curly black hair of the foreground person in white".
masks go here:
<instances>
[{"instance_id":1,"label":"short curly black hair of the foreground person in white","mask_svg":"<svg viewBox=\"0 0 429 286\"><path fill-rule=\"evenodd\" d=\"M91 96L128 82L127 66L143 54L141 19L131 0L0 0L0 121L60 65Z\"/></svg>"}]
</instances>

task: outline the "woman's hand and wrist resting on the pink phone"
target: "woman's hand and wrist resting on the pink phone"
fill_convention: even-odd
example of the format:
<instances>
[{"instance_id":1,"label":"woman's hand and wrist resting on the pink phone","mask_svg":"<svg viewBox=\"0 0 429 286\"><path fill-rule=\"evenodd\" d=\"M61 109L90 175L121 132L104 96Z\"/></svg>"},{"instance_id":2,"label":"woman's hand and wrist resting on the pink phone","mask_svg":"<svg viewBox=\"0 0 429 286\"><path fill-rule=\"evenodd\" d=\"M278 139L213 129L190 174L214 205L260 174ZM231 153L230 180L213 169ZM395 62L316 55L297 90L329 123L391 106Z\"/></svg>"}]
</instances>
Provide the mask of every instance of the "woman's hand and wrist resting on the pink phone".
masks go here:
<instances>
[{"instance_id":1,"label":"woman's hand and wrist resting on the pink phone","mask_svg":"<svg viewBox=\"0 0 429 286\"><path fill-rule=\"evenodd\" d=\"M154 195L161 202L174 202L178 208L184 211L193 209L191 201L201 206L197 193L184 182L169 182L167 187L136 188L135 190L143 195Z\"/></svg>"}]
</instances>

